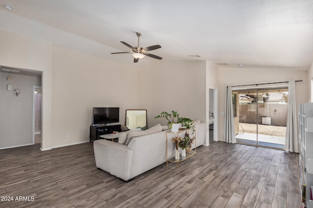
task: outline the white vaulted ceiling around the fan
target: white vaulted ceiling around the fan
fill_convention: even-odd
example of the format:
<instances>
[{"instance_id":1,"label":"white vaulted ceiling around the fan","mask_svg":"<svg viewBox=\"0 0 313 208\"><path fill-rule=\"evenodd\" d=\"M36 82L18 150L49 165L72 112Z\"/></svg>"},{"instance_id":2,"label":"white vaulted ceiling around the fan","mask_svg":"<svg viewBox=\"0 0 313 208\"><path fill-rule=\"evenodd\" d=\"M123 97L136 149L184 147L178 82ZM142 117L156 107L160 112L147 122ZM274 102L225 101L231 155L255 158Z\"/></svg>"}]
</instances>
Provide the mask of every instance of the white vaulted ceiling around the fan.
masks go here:
<instances>
[{"instance_id":1,"label":"white vaulted ceiling around the fan","mask_svg":"<svg viewBox=\"0 0 313 208\"><path fill-rule=\"evenodd\" d=\"M313 61L313 0L0 0L0 4L12 7L1 10L10 13L5 17L13 24L16 14L58 29L57 36L47 38L49 32L28 28L32 34L41 33L36 38L128 64L135 64L130 54L110 52L130 51L120 40L136 46L135 32L142 33L140 46L161 45L150 53L163 60L287 69L308 69ZM152 60L144 59L140 61Z\"/></svg>"}]
</instances>

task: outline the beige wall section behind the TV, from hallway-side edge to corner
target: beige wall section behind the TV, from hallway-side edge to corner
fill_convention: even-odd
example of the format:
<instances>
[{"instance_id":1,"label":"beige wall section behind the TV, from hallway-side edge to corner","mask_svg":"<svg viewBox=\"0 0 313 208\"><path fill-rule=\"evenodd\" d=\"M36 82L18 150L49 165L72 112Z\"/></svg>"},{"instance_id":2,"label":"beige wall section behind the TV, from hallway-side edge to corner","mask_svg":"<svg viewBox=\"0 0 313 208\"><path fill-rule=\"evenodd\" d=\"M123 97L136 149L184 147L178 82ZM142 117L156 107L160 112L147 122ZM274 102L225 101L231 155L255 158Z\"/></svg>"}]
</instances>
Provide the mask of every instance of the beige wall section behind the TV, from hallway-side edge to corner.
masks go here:
<instances>
[{"instance_id":1,"label":"beige wall section behind the TV, from hallway-side edge to corner","mask_svg":"<svg viewBox=\"0 0 313 208\"><path fill-rule=\"evenodd\" d=\"M92 107L138 108L135 67L53 46L52 77L52 147L89 141Z\"/></svg>"}]
</instances>

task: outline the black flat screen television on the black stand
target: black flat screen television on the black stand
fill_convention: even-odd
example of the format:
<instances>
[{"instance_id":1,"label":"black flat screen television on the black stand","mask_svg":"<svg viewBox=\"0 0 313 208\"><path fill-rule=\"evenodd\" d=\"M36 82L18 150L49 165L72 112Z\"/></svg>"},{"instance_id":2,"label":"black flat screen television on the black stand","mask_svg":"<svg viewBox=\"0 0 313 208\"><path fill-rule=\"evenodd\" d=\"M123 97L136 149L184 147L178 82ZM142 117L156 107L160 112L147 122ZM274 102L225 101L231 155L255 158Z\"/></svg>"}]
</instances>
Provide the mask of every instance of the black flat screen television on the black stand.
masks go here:
<instances>
[{"instance_id":1,"label":"black flat screen television on the black stand","mask_svg":"<svg viewBox=\"0 0 313 208\"><path fill-rule=\"evenodd\" d=\"M96 108L93 107L92 113L92 125L103 125L119 122L119 108L105 107Z\"/></svg>"}]
</instances>

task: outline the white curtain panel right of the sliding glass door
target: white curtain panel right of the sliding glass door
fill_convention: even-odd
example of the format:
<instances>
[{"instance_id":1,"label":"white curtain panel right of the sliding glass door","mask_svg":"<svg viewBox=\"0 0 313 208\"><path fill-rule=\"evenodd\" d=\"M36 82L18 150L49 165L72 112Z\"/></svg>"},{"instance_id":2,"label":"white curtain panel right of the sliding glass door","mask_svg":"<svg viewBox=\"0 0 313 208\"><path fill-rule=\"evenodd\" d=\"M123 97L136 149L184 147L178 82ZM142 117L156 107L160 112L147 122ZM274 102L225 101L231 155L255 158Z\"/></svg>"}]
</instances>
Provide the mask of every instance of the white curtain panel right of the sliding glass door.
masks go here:
<instances>
[{"instance_id":1,"label":"white curtain panel right of the sliding glass door","mask_svg":"<svg viewBox=\"0 0 313 208\"><path fill-rule=\"evenodd\" d=\"M287 113L287 129L285 140L285 151L299 152L299 138L297 131L297 111L295 104L295 87L294 80L289 81L288 86L288 113Z\"/></svg>"}]
</instances>

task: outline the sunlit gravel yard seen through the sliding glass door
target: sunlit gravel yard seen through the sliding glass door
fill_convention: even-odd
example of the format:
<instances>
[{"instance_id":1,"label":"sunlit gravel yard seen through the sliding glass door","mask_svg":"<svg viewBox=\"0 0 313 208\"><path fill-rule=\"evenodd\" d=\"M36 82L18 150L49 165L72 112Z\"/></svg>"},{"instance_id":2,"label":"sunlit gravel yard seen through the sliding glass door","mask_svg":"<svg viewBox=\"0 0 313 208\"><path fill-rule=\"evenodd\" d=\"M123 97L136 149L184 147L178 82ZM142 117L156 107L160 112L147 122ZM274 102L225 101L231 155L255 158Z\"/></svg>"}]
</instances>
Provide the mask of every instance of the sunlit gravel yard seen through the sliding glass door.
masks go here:
<instances>
[{"instance_id":1,"label":"sunlit gravel yard seen through the sliding glass door","mask_svg":"<svg viewBox=\"0 0 313 208\"><path fill-rule=\"evenodd\" d=\"M239 123L239 133L256 133L256 124ZM271 135L271 136L286 136L286 127L284 126L270 126L270 125L258 125L258 133Z\"/></svg>"}]
</instances>

